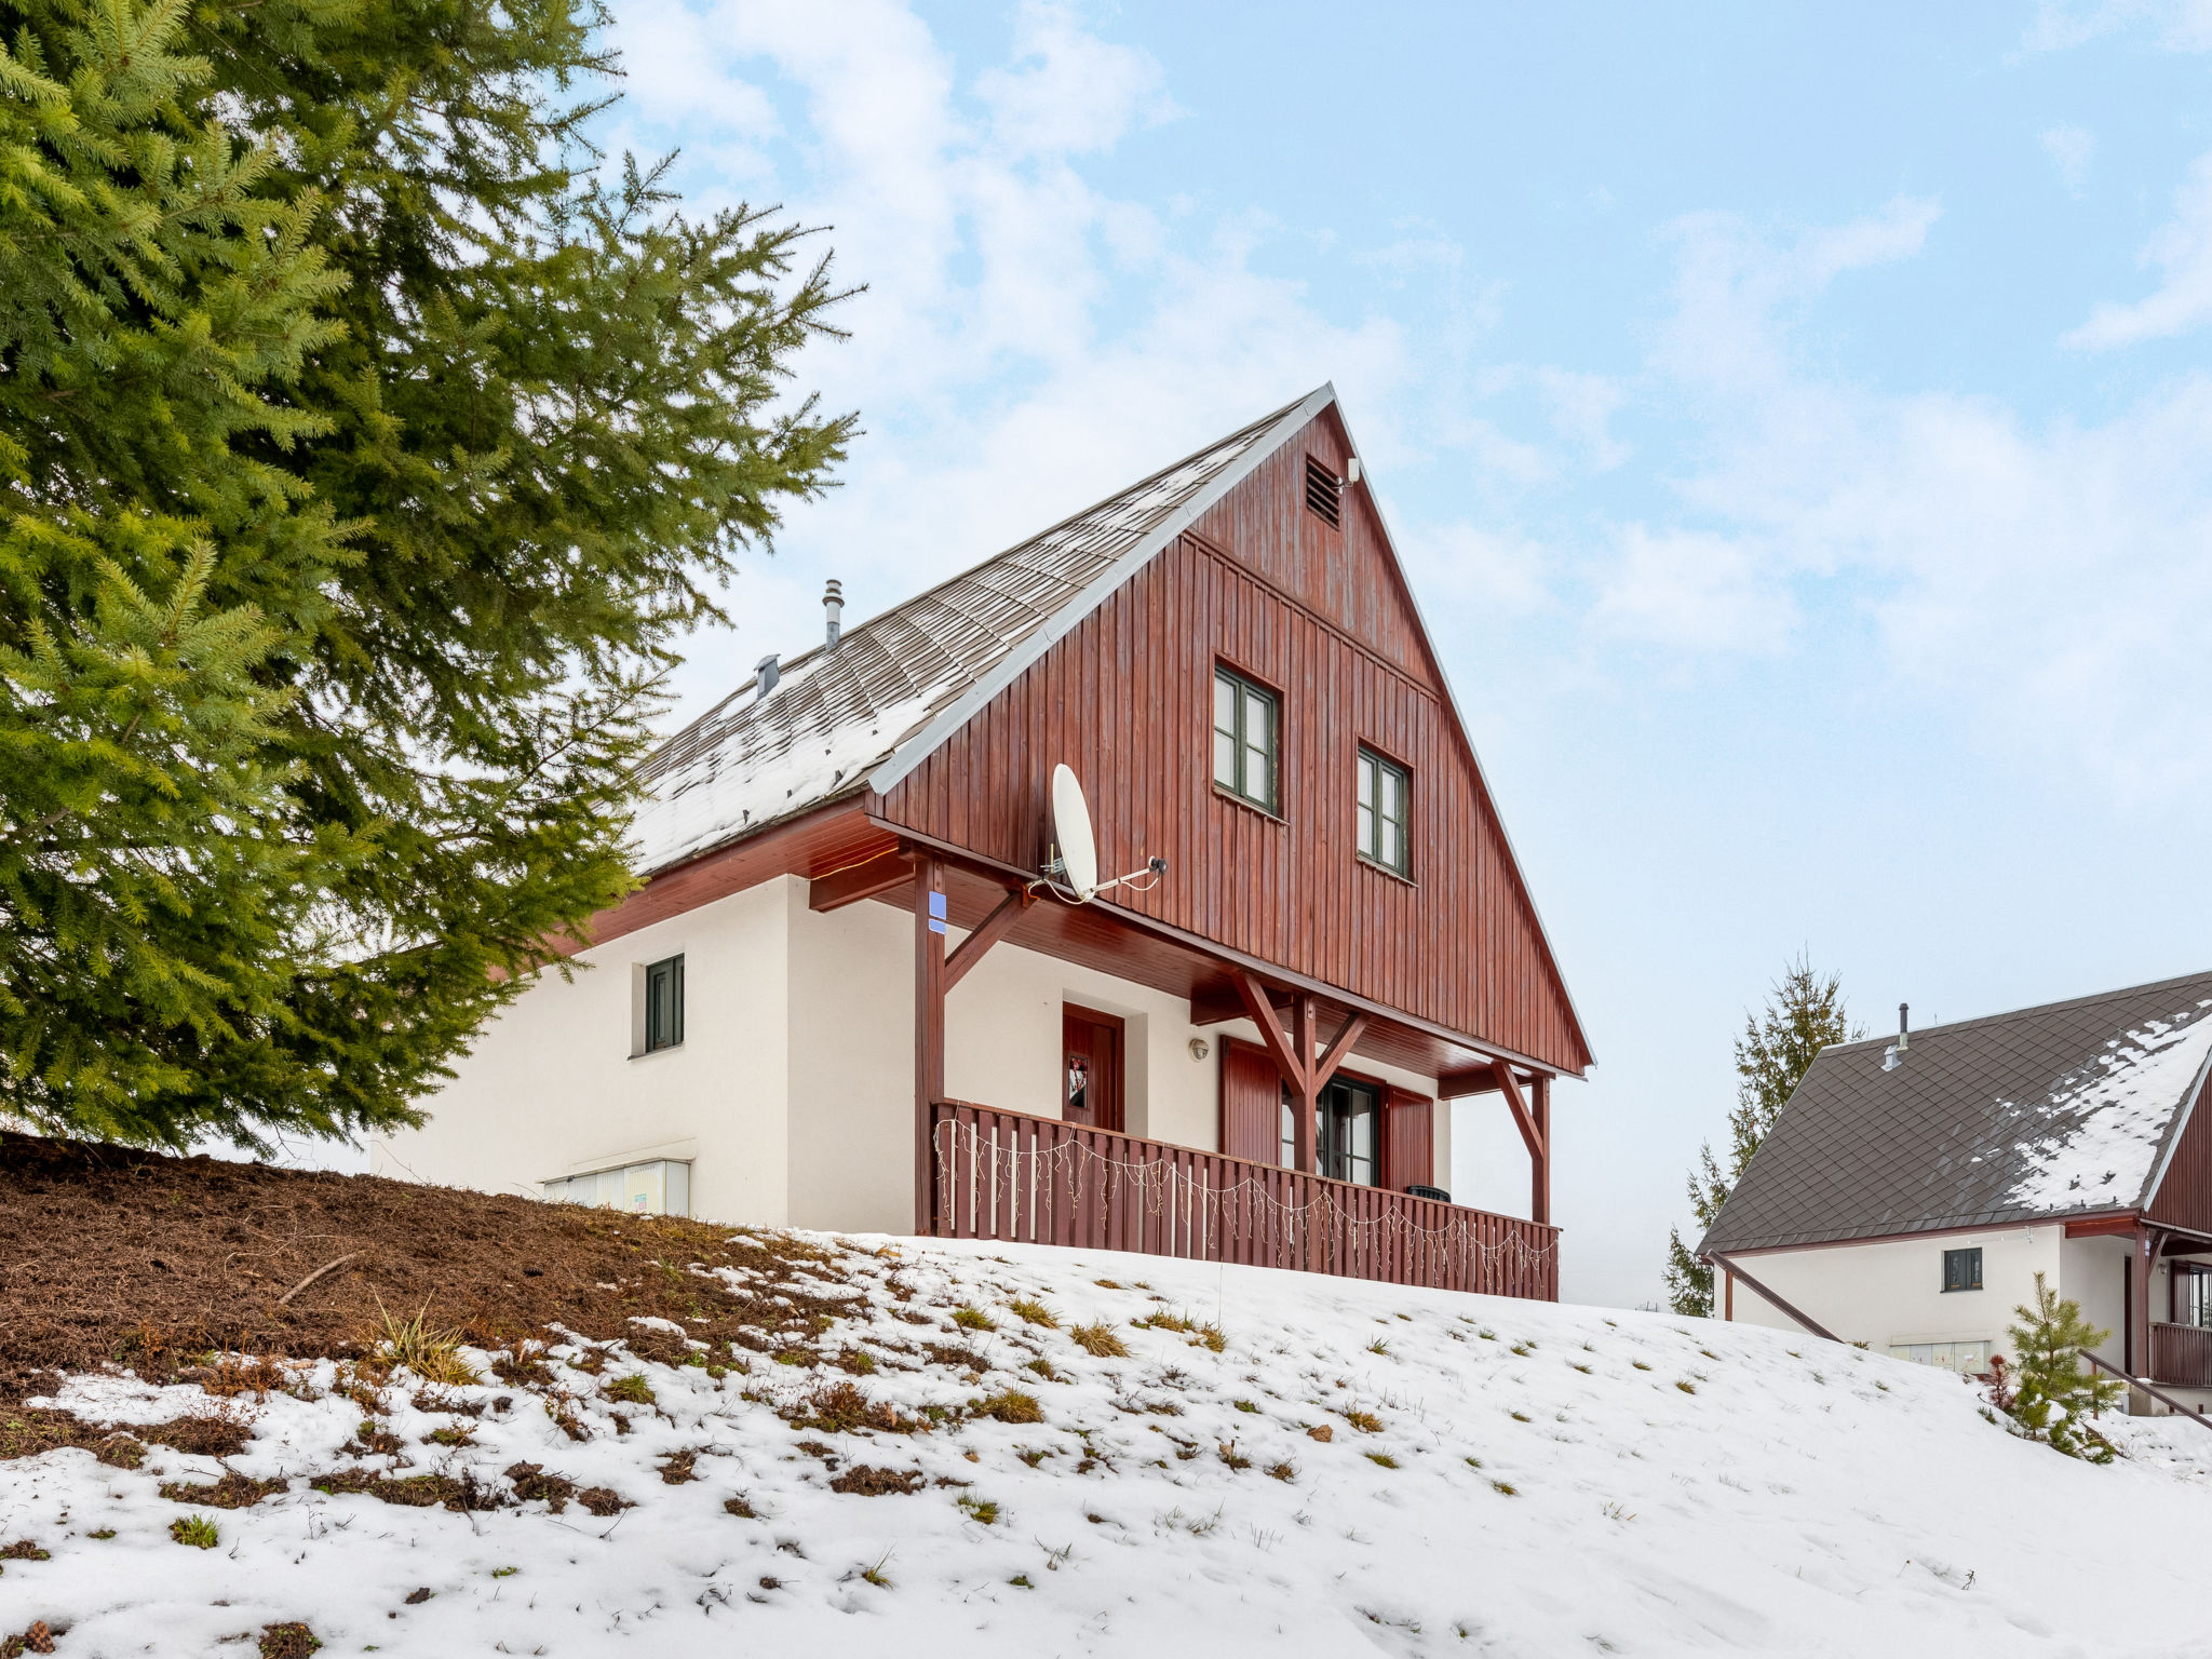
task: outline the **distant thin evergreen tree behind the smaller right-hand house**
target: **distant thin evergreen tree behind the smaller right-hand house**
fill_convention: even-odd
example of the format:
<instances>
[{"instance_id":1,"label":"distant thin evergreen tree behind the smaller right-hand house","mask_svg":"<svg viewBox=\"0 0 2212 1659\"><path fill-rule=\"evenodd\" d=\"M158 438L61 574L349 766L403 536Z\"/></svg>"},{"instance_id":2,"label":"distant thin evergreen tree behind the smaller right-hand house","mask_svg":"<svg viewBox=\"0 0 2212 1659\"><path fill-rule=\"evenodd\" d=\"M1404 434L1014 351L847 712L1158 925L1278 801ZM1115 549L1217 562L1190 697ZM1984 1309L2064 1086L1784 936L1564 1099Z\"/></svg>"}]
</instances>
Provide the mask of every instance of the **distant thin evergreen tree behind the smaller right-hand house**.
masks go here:
<instances>
[{"instance_id":1,"label":"distant thin evergreen tree behind the smaller right-hand house","mask_svg":"<svg viewBox=\"0 0 2212 1659\"><path fill-rule=\"evenodd\" d=\"M1728 1115L1728 1168L1721 1168L1708 1141L1690 1170L1697 1237L1721 1214L1752 1152L1774 1128L1814 1057L1832 1042L1856 1042L1860 1035L1865 1033L1851 1031L1845 1018L1843 982L1834 973L1814 973L1805 956L1767 989L1763 1013L1743 1015L1743 1035L1736 1037L1736 1108ZM1683 1243L1679 1228L1668 1230L1666 1290L1677 1314L1712 1314L1712 1267Z\"/></svg>"}]
</instances>

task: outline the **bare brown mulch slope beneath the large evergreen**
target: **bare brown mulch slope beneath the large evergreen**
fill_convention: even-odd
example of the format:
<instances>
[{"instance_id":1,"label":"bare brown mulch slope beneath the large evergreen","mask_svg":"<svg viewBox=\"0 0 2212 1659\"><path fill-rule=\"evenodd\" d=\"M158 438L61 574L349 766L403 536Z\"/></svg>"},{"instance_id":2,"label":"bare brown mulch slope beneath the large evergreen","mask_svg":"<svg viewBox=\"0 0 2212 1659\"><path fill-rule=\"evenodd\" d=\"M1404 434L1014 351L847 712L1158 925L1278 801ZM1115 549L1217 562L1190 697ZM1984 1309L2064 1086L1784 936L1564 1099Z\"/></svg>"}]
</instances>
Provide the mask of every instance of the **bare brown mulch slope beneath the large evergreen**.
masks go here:
<instances>
[{"instance_id":1,"label":"bare brown mulch slope beneath the large evergreen","mask_svg":"<svg viewBox=\"0 0 2212 1659\"><path fill-rule=\"evenodd\" d=\"M730 1290L692 1263L754 1276ZM743 1325L812 1336L860 1307L821 1279L834 1256L774 1232L0 1133L0 1405L38 1394L42 1371L102 1363L276 1387L208 1360L356 1358L383 1310L425 1303L487 1349L560 1323L684 1358L684 1336L630 1321L666 1318L714 1349ZM535 1380L526 1358L511 1369L502 1380Z\"/></svg>"}]
</instances>

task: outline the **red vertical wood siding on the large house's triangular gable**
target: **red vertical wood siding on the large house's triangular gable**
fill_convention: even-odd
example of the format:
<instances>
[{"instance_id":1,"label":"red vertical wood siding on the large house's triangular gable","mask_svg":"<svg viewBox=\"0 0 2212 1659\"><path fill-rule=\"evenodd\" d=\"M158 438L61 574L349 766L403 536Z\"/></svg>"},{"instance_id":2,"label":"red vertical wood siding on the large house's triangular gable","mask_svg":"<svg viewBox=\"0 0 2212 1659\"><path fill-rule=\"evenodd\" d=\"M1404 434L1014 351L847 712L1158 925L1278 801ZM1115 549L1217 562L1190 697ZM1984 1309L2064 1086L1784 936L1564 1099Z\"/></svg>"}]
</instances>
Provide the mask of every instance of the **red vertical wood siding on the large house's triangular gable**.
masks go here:
<instances>
[{"instance_id":1,"label":"red vertical wood siding on the large house's triangular gable","mask_svg":"<svg viewBox=\"0 0 2212 1659\"><path fill-rule=\"evenodd\" d=\"M1283 445L883 799L883 818L1035 867L1046 774L1084 779L1106 872L1168 858L1155 916L1559 1071L1590 1055L1365 489L1332 531ZM1283 697L1281 818L1212 787L1212 675ZM1413 880L1354 854L1360 743L1413 774Z\"/></svg>"}]
</instances>

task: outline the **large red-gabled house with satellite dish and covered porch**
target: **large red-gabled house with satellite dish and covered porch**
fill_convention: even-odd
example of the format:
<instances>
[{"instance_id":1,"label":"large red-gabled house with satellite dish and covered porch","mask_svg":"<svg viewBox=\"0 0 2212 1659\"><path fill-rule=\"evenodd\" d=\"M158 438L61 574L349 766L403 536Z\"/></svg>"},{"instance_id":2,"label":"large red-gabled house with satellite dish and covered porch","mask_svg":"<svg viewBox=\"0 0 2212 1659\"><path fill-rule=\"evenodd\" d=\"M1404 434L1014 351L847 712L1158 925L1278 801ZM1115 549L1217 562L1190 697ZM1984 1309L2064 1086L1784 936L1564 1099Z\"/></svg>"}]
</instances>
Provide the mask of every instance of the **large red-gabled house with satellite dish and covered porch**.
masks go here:
<instances>
[{"instance_id":1,"label":"large red-gabled house with satellite dish and covered porch","mask_svg":"<svg viewBox=\"0 0 2212 1659\"><path fill-rule=\"evenodd\" d=\"M1590 1051L1332 389L843 635L825 604L650 761L591 971L378 1170L1555 1294ZM1040 883L1057 763L1141 872L1088 902ZM1478 1093L1526 1219L1442 1192Z\"/></svg>"}]
</instances>

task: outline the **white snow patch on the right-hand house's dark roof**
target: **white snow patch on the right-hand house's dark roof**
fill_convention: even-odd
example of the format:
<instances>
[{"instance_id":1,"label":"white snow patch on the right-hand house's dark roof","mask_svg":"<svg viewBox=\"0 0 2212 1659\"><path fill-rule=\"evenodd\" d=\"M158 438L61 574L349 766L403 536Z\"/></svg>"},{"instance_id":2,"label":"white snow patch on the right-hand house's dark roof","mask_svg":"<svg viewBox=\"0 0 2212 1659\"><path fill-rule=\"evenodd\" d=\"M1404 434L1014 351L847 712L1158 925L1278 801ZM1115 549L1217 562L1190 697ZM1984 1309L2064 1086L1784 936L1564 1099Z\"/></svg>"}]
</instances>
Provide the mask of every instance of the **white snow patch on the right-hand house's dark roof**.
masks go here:
<instances>
[{"instance_id":1,"label":"white snow patch on the right-hand house's dark roof","mask_svg":"<svg viewBox=\"0 0 2212 1659\"><path fill-rule=\"evenodd\" d=\"M2212 1055L2212 998L2170 1020L2146 1020L2059 1079L2037 1106L2048 1124L2020 1141L2026 1175L2006 1194L2031 1210L2139 1203L2152 1161L2190 1086Z\"/></svg>"}]
</instances>

